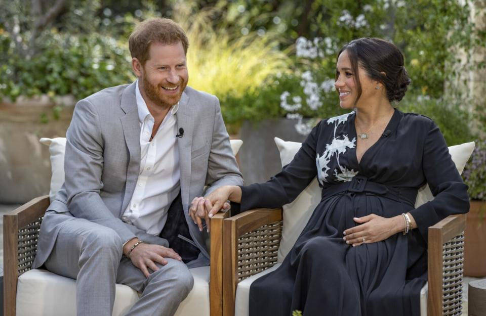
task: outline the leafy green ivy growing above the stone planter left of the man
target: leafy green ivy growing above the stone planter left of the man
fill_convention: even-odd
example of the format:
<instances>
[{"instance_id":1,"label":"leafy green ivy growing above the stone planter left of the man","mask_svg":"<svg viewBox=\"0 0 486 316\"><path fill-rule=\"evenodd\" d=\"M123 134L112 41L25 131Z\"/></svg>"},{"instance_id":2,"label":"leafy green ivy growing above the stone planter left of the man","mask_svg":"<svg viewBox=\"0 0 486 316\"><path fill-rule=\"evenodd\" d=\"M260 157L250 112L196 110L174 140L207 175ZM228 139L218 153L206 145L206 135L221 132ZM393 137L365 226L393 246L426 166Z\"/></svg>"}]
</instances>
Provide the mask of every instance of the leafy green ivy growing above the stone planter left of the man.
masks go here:
<instances>
[{"instance_id":1,"label":"leafy green ivy growing above the stone planter left of the man","mask_svg":"<svg viewBox=\"0 0 486 316\"><path fill-rule=\"evenodd\" d=\"M99 34L54 34L42 54L26 60L10 52L0 69L0 96L15 100L19 95L66 95L83 98L101 88L133 80L127 49Z\"/></svg>"}]
</instances>

